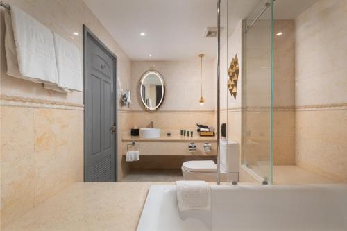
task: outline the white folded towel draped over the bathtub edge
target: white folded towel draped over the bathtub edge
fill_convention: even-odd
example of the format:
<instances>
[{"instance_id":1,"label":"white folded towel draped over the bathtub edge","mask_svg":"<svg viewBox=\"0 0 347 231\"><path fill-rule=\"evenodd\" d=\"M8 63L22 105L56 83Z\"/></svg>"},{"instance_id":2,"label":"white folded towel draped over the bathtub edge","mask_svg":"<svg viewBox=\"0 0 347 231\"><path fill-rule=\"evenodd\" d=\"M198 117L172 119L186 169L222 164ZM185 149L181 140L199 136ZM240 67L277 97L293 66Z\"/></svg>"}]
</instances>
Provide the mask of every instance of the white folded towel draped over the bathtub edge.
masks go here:
<instances>
[{"instance_id":1,"label":"white folded towel draped over the bathtub edge","mask_svg":"<svg viewBox=\"0 0 347 231\"><path fill-rule=\"evenodd\" d=\"M211 187L205 181L176 181L178 209L210 210Z\"/></svg>"}]
</instances>

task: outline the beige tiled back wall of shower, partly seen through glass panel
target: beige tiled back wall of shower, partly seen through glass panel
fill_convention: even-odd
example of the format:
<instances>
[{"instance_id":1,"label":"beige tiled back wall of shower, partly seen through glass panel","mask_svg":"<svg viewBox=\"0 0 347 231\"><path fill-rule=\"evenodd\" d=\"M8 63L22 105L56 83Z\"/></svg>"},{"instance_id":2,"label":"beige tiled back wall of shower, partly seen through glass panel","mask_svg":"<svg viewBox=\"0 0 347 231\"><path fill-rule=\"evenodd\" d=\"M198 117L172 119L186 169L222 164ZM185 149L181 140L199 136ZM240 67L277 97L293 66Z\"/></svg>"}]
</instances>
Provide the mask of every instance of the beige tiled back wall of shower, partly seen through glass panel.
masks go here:
<instances>
[{"instance_id":1,"label":"beige tiled back wall of shower, partly seen through glass panel","mask_svg":"<svg viewBox=\"0 0 347 231\"><path fill-rule=\"evenodd\" d=\"M273 164L295 163L294 20L274 20ZM277 36L278 32L283 34ZM244 154L253 168L270 160L271 60L270 21L260 19L247 34L244 81ZM262 171L261 171L262 172ZM262 172L261 174L265 174Z\"/></svg>"}]
</instances>

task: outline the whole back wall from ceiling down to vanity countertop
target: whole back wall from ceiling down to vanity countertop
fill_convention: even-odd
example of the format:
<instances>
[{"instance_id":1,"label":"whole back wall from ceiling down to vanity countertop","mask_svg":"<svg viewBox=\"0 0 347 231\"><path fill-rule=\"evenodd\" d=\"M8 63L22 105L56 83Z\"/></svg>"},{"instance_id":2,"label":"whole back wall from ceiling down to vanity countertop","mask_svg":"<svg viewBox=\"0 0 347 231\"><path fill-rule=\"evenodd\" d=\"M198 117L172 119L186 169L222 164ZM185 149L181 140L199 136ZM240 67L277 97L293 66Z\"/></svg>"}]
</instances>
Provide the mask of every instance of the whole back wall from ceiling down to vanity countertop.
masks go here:
<instances>
[{"instance_id":1,"label":"whole back wall from ceiling down to vanity countertop","mask_svg":"<svg viewBox=\"0 0 347 231\"><path fill-rule=\"evenodd\" d=\"M153 66L154 65L154 66ZM158 111L144 110L139 98L139 80L144 72L155 69L165 81L165 98ZM214 60L203 58L203 97L205 105L199 105L201 96L201 60L167 62L131 62L130 126L154 126L166 130L196 129L196 123L214 126L217 87L213 78ZM140 104L141 103L141 104Z\"/></svg>"}]
</instances>

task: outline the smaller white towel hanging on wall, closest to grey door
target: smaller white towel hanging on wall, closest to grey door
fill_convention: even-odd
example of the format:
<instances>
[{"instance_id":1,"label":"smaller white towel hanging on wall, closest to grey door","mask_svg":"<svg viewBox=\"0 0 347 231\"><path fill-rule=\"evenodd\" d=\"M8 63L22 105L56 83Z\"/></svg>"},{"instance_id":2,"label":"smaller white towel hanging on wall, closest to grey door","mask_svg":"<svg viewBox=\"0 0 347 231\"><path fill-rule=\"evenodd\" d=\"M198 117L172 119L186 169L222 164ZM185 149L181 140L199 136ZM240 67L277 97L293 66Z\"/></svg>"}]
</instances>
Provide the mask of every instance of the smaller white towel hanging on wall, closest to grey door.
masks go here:
<instances>
[{"instance_id":1,"label":"smaller white towel hanging on wall, closest to grey door","mask_svg":"<svg viewBox=\"0 0 347 231\"><path fill-rule=\"evenodd\" d=\"M83 77L80 51L74 44L56 33L53 33L53 40L58 67L58 87L82 92Z\"/></svg>"}]
</instances>

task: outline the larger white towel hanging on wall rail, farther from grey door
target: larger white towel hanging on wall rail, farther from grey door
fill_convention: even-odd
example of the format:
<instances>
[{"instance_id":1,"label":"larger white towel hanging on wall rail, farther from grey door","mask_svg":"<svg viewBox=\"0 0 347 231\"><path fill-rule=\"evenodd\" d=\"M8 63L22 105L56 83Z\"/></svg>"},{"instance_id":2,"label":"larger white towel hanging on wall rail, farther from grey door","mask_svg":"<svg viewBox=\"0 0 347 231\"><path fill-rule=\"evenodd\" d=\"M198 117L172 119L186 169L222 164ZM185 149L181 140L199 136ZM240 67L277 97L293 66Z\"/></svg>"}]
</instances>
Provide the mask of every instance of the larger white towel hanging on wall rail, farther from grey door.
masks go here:
<instances>
[{"instance_id":1,"label":"larger white towel hanging on wall rail, farther from grey door","mask_svg":"<svg viewBox=\"0 0 347 231\"><path fill-rule=\"evenodd\" d=\"M10 19L6 17L6 58L8 74L37 83L58 84L58 70L53 35L49 28L15 6L10 6ZM11 28L12 27L12 28ZM14 42L10 42L13 31ZM12 40L13 41L13 40ZM11 45L12 43L12 45ZM13 44L15 51L13 53ZM13 57L16 55L17 57ZM17 65L15 60L17 60ZM18 66L19 71L13 70Z\"/></svg>"}]
</instances>

